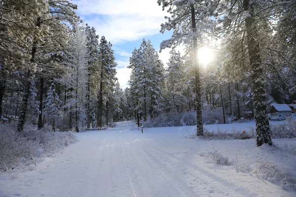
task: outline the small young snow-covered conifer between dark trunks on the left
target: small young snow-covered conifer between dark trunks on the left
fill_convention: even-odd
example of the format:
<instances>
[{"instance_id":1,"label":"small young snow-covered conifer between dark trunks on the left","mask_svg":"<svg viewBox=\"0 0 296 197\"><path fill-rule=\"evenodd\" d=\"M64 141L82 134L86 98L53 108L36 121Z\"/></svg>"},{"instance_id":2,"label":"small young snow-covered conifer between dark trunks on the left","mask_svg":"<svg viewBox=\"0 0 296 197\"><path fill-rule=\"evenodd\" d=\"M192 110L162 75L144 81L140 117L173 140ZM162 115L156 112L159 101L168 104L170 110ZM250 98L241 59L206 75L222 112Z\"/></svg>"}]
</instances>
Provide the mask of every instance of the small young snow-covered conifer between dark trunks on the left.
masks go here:
<instances>
[{"instance_id":1,"label":"small young snow-covered conifer between dark trunks on the left","mask_svg":"<svg viewBox=\"0 0 296 197\"><path fill-rule=\"evenodd\" d=\"M54 83L51 84L46 95L44 115L50 120L52 129L55 131L55 120L60 116L60 105L62 101L56 93Z\"/></svg>"}]
</instances>

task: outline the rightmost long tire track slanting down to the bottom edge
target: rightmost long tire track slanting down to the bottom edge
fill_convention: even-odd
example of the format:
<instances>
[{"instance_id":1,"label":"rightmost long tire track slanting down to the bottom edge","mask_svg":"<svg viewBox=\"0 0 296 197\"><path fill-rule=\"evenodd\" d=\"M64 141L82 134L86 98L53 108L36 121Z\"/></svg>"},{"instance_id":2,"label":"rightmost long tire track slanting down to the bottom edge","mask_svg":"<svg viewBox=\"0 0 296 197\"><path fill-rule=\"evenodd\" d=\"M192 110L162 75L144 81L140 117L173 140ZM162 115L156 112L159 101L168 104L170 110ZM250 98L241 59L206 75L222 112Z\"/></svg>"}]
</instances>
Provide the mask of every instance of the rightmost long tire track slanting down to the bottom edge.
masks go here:
<instances>
[{"instance_id":1,"label":"rightmost long tire track slanting down to the bottom edge","mask_svg":"<svg viewBox=\"0 0 296 197\"><path fill-rule=\"evenodd\" d=\"M235 192L236 194L239 194L239 195L242 195L242 196L245 196L245 197L256 197L256 196L258 196L258 194L250 193L250 191L246 190L245 188L241 188L239 186L236 186L234 183L231 183L228 180L222 179L222 178L216 176L215 174L210 173L207 170L201 169L199 166L197 166L195 164L191 164L189 162L186 162L186 161L184 161L184 160L182 160L182 159L180 159L180 158L178 158L178 157L176 157L176 156L174 156L174 155L172 155L172 154L170 154L168 152L165 152L165 151L161 150L160 148L158 148L156 146L152 146L151 144L149 144L148 142L146 142L143 139L138 138L137 141L138 141L138 143L139 143L139 141L145 143L146 144L145 147L148 148L150 151L152 149L154 149L154 153L155 153L155 150L158 153L161 152L162 154L168 156L169 158L172 158L172 159L177 160L178 162L184 164L185 166L187 166L187 168L190 168L190 170L189 170L190 172L192 172L192 171L198 172L199 174L202 174L203 176L215 181L216 183L219 183L220 185L230 189L231 191ZM150 154L149 152L147 152L147 153Z\"/></svg>"}]
</instances>

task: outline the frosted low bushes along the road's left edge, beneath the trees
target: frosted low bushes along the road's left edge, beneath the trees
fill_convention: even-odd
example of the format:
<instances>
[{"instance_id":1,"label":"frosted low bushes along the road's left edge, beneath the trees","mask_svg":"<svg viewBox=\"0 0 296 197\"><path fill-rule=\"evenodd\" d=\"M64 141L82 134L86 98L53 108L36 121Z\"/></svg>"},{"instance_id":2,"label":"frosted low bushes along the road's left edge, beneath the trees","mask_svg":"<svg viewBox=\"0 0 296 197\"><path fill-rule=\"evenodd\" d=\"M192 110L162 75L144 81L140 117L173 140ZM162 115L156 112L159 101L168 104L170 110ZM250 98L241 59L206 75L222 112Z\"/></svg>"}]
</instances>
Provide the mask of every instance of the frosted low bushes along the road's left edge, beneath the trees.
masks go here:
<instances>
[{"instance_id":1,"label":"frosted low bushes along the road's left edge, beneath the trees","mask_svg":"<svg viewBox=\"0 0 296 197\"><path fill-rule=\"evenodd\" d=\"M35 164L46 154L53 154L76 141L70 132L53 132L51 127L36 130L27 126L21 133L6 125L0 125L0 170L11 173Z\"/></svg>"}]
</instances>

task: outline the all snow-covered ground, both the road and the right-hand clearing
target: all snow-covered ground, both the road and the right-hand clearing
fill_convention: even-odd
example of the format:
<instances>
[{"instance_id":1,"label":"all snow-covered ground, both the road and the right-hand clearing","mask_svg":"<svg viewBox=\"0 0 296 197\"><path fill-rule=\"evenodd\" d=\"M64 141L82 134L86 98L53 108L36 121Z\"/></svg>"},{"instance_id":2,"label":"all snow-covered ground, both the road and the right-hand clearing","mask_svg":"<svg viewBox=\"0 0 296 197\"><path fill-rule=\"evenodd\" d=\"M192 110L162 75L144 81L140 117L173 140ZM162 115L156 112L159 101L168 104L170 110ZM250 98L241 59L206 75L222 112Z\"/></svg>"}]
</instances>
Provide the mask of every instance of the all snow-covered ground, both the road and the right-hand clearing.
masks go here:
<instances>
[{"instance_id":1,"label":"all snow-covered ground, both the road and the right-hand clearing","mask_svg":"<svg viewBox=\"0 0 296 197\"><path fill-rule=\"evenodd\" d=\"M256 148L255 139L185 139L191 126L130 128L135 123L127 121L75 133L79 142L62 153L21 174L0 174L0 197L296 197L281 187L296 177L296 139L273 140L281 149ZM230 164L216 164L213 155Z\"/></svg>"}]
</instances>

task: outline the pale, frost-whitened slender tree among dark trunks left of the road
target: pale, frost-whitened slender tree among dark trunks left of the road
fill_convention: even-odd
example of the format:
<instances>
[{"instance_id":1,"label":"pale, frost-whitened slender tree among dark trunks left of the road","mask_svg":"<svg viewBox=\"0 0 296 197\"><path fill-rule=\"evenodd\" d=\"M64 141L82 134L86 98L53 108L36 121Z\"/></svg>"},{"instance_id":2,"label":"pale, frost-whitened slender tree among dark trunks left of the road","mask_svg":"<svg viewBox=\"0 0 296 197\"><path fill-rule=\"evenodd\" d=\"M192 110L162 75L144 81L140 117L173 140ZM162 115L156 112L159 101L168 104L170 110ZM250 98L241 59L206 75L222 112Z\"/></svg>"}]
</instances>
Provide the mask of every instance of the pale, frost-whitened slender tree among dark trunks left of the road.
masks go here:
<instances>
[{"instance_id":1,"label":"pale, frost-whitened slender tree among dark trunks left of the road","mask_svg":"<svg viewBox=\"0 0 296 197\"><path fill-rule=\"evenodd\" d=\"M75 130L79 132L81 121L86 120L85 97L87 94L89 54L87 51L87 35L85 28L74 26L68 42L68 49L61 64L64 66L64 73L61 74L58 83L66 86L70 98L67 100L69 116L75 114ZM72 110L71 110L72 109ZM71 121L70 121L71 122ZM71 129L72 125L70 126Z\"/></svg>"}]
</instances>

